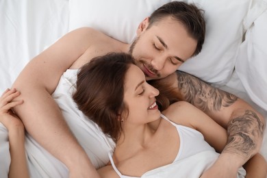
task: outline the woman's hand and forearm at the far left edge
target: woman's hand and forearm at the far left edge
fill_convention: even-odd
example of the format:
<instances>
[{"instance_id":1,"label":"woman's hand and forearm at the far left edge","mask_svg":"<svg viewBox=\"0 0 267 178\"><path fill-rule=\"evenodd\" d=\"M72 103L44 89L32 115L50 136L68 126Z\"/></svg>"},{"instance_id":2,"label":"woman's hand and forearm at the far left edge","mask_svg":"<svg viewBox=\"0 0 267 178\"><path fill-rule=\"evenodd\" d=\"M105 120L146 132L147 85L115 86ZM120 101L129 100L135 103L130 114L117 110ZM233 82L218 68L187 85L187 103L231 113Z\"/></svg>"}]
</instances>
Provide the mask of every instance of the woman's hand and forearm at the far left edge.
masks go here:
<instances>
[{"instance_id":1,"label":"woman's hand and forearm at the far left edge","mask_svg":"<svg viewBox=\"0 0 267 178\"><path fill-rule=\"evenodd\" d=\"M3 92L0 98L0 123L8 129L8 138L10 142L10 173L8 177L16 178L29 177L27 162L25 156L25 133L21 120L13 114L12 107L21 105L22 100L12 101L18 97L20 92L16 89L8 89Z\"/></svg>"}]
</instances>

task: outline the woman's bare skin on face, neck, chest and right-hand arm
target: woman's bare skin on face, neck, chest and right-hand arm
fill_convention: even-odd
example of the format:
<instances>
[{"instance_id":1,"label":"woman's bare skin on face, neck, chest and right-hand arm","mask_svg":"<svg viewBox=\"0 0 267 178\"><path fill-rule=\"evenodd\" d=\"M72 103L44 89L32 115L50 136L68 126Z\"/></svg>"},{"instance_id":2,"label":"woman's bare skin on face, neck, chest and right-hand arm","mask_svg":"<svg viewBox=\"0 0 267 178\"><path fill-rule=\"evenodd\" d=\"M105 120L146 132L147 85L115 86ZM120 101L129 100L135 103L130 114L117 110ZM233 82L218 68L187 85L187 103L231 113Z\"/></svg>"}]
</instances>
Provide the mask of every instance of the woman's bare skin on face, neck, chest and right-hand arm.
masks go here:
<instances>
[{"instance_id":1,"label":"woman's bare skin on face, neck, chest and right-hand arm","mask_svg":"<svg viewBox=\"0 0 267 178\"><path fill-rule=\"evenodd\" d=\"M158 94L156 88L147 84L140 68L131 65L125 76L124 102L128 112L123 116L123 131L113 154L114 163L123 175L141 177L149 170L171 164L179 152L177 129L161 118L155 104ZM200 131L219 153L227 144L227 131L187 102L173 103L162 113L174 123ZM118 118L118 122L120 119ZM259 156L261 155L253 157L247 163L251 165L247 166L259 170L257 166L266 165ZM111 163L98 171L101 177L118 177ZM264 167L260 171L251 171L253 172L257 174L247 177L266 177Z\"/></svg>"}]
</instances>

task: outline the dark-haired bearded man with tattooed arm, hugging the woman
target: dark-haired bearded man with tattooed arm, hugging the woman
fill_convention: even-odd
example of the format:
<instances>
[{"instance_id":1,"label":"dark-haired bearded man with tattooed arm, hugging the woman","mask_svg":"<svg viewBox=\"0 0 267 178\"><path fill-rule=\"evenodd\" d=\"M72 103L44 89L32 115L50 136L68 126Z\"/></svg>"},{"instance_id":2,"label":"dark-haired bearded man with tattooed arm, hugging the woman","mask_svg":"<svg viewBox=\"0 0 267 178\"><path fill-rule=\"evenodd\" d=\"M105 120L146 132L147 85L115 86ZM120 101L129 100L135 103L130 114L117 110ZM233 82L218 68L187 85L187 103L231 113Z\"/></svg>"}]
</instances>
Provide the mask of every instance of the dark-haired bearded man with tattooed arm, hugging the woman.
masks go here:
<instances>
[{"instance_id":1,"label":"dark-haired bearded man with tattooed arm, hugging the woman","mask_svg":"<svg viewBox=\"0 0 267 178\"><path fill-rule=\"evenodd\" d=\"M23 120L29 134L68 167L70 177L99 177L51 97L62 73L67 68L80 68L98 55L129 52L148 80L161 79L199 53L204 36L205 23L201 12L194 5L177 1L162 6L145 18L132 44L125 44L90 28L71 31L31 60L16 79L13 87L21 91L24 101L15 108L16 114ZM217 118L218 123L228 128L229 143L203 177L236 176L237 169L259 151L264 119L241 99L204 83L200 86L206 89L194 94L192 81L199 79L184 73L178 73L178 76L176 82L181 98ZM181 81L185 78L191 81ZM208 90L214 90L219 99L209 94L203 95L203 101L194 102L202 91L206 94ZM240 123L245 126L240 127Z\"/></svg>"}]
</instances>

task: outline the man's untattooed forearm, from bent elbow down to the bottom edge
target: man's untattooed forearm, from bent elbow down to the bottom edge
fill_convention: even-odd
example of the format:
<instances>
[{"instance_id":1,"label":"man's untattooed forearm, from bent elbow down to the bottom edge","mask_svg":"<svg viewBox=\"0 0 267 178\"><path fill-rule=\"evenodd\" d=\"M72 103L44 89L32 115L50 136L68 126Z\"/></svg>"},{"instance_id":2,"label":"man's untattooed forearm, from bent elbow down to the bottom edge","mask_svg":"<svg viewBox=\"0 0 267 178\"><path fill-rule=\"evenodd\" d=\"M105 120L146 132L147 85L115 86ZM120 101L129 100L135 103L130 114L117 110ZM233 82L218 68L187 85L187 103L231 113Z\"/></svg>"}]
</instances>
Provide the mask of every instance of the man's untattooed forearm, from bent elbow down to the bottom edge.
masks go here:
<instances>
[{"instance_id":1,"label":"man's untattooed forearm, from bent elbow down to the bottom edge","mask_svg":"<svg viewBox=\"0 0 267 178\"><path fill-rule=\"evenodd\" d=\"M14 86L19 90L20 85ZM97 177L97 170L68 129L51 94L44 89L30 90L25 86L21 88L20 97L24 103L16 107L15 112L23 120L28 133L68 167L70 176L82 177L81 175L86 174Z\"/></svg>"}]
</instances>

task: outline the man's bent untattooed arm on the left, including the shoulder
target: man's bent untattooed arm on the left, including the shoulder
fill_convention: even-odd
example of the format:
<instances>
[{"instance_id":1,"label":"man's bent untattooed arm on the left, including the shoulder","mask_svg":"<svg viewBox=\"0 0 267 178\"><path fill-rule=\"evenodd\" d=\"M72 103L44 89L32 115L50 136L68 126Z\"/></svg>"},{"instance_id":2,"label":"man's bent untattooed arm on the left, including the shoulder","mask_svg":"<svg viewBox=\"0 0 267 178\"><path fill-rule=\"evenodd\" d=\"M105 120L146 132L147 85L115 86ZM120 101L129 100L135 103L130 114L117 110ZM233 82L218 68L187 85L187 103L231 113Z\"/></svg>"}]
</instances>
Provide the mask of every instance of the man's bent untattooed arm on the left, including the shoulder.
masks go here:
<instances>
[{"instance_id":1,"label":"man's bent untattooed arm on the left, including the shoulder","mask_svg":"<svg viewBox=\"0 0 267 178\"><path fill-rule=\"evenodd\" d=\"M51 94L64 71L88 49L91 31L78 29L37 55L14 82L23 105L14 108L29 134L70 170L70 177L98 177Z\"/></svg>"}]
</instances>

